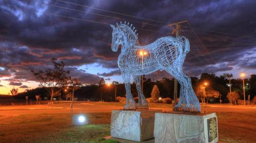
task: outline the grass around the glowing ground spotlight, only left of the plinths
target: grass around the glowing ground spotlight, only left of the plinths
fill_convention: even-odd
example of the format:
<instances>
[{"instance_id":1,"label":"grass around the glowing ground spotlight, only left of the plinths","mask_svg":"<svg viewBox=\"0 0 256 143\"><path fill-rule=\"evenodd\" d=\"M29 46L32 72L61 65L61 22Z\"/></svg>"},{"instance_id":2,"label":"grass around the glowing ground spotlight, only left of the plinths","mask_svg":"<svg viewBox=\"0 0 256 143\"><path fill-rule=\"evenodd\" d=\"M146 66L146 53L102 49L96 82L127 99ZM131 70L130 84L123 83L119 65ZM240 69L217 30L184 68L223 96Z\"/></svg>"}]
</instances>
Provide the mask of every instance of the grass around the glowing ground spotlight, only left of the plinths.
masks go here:
<instances>
[{"instance_id":1,"label":"grass around the glowing ground spotlight, only left of the plinths","mask_svg":"<svg viewBox=\"0 0 256 143\"><path fill-rule=\"evenodd\" d=\"M110 135L111 113L87 114L88 125L73 126L70 115L40 114L1 117L0 142L116 142Z\"/></svg>"}]
</instances>

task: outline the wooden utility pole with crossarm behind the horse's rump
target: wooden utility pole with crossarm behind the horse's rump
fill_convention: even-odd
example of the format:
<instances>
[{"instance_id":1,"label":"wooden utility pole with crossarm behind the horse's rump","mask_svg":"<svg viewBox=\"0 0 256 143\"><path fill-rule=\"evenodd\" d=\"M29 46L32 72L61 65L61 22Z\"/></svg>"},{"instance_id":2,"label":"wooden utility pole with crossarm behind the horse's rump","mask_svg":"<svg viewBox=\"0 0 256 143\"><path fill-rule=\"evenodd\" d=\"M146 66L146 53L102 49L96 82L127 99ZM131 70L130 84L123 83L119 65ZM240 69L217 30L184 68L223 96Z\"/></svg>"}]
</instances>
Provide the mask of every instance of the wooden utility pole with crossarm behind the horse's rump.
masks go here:
<instances>
[{"instance_id":1,"label":"wooden utility pole with crossarm behind the horse's rump","mask_svg":"<svg viewBox=\"0 0 256 143\"><path fill-rule=\"evenodd\" d=\"M173 31L172 31L172 34L175 34L176 33L176 37L179 36L179 31L180 31L180 24L181 23L187 23L188 20L184 20L184 21L180 21L180 22L176 22L176 23L172 23L172 24L168 24L167 26L168 27L172 27L172 26L176 26ZM173 111L175 111L175 108L174 106L177 105L177 96L178 95L178 81L176 78L174 78L174 105L173 105Z\"/></svg>"}]
</instances>

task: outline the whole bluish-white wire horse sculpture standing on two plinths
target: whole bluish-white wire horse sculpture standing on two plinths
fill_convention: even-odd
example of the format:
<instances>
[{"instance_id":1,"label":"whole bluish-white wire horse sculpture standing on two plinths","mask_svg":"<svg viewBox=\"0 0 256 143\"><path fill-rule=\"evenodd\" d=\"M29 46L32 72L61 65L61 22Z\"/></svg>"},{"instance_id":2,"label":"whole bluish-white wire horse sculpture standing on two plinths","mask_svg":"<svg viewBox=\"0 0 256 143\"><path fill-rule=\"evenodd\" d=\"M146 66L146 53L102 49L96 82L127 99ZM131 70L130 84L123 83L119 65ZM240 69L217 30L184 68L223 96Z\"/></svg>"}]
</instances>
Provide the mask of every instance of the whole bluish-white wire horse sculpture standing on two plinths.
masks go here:
<instances>
[{"instance_id":1,"label":"whole bluish-white wire horse sculpture standing on two plinths","mask_svg":"<svg viewBox=\"0 0 256 143\"><path fill-rule=\"evenodd\" d=\"M138 34L132 24L120 22L113 28L112 46L113 51L121 45L121 53L118 57L118 67L125 84L126 104L124 110L148 109L146 99L141 92L141 78L143 74L149 74L157 70L165 70L174 76L180 83L180 100L175 106L176 111L200 112L201 107L195 92L192 89L191 79L182 70L186 54L190 50L189 41L183 36L162 37L155 42L140 46ZM136 83L139 102L136 105L131 93L131 75Z\"/></svg>"}]
</instances>

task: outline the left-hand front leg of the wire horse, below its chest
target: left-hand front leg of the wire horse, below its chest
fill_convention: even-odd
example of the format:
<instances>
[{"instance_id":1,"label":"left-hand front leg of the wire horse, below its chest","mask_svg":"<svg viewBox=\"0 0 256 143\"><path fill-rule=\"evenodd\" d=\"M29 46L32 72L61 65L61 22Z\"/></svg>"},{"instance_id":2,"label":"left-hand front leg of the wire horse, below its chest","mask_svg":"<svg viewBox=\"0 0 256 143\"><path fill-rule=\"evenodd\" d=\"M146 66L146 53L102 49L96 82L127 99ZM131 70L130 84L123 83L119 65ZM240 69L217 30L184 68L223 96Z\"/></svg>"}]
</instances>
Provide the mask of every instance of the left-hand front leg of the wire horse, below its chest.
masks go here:
<instances>
[{"instance_id":1,"label":"left-hand front leg of the wire horse, below its chest","mask_svg":"<svg viewBox=\"0 0 256 143\"><path fill-rule=\"evenodd\" d=\"M130 74L122 73L122 78L125 85L126 91L126 104L123 106L124 110L135 110L136 104L131 93Z\"/></svg>"}]
</instances>

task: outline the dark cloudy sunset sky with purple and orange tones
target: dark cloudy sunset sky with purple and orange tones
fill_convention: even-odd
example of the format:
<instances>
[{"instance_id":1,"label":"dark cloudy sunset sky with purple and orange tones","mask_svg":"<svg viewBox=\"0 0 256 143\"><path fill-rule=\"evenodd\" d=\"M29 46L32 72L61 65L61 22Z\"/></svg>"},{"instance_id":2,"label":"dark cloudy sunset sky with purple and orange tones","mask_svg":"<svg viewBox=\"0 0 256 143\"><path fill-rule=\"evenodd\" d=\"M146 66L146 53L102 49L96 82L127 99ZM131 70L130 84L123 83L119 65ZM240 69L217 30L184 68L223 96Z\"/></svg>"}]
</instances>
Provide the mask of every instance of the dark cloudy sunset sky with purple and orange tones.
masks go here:
<instances>
[{"instance_id":1,"label":"dark cloudy sunset sky with purple and orange tones","mask_svg":"<svg viewBox=\"0 0 256 143\"><path fill-rule=\"evenodd\" d=\"M30 70L51 68L52 58L84 84L123 82L109 25L123 19L137 28L141 45L171 33L167 24L188 20L192 28L184 23L180 32L190 40L186 74L249 77L256 74L255 7L256 1L0 1L0 94L36 88ZM149 77L172 78L164 71Z\"/></svg>"}]
</instances>

